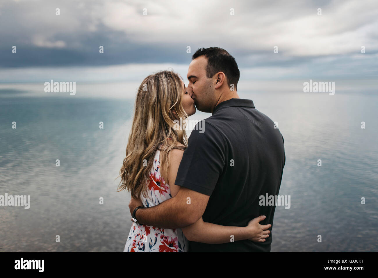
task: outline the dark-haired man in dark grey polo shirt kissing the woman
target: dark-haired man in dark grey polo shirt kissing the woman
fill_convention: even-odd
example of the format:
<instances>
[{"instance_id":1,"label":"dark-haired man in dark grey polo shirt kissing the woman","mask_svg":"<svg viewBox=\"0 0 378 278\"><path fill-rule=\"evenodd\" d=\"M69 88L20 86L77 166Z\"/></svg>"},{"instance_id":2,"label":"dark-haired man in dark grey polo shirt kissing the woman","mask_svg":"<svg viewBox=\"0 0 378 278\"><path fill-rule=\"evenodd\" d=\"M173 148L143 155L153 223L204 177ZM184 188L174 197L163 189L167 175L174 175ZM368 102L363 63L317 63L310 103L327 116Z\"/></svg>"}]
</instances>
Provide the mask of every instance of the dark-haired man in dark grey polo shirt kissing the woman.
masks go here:
<instances>
[{"instance_id":1,"label":"dark-haired man in dark grey polo shirt kissing the woman","mask_svg":"<svg viewBox=\"0 0 378 278\"><path fill-rule=\"evenodd\" d=\"M175 184L181 186L177 195L136 210L139 223L182 228L202 216L204 222L244 227L265 215L260 224L273 227L275 206L259 202L260 196L279 193L285 165L283 137L253 101L239 98L239 76L237 63L226 50L200 48L194 53L187 73L188 90L197 109L212 116L203 120L203 133L192 130L177 172ZM130 213L137 206L132 199ZM270 235L265 242L191 242L189 251L270 252Z\"/></svg>"}]
</instances>

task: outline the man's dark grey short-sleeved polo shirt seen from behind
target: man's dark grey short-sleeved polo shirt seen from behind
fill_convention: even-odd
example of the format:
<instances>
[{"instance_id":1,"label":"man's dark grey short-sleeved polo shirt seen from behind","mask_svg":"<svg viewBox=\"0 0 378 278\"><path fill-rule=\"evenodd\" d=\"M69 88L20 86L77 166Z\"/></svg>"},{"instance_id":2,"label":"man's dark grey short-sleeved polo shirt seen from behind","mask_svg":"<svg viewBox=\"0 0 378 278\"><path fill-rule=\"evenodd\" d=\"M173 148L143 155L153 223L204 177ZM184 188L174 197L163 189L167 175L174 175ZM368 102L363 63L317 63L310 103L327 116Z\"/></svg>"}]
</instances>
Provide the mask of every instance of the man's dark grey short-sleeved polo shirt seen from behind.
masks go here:
<instances>
[{"instance_id":1,"label":"man's dark grey short-sleeved polo shirt seen from behind","mask_svg":"<svg viewBox=\"0 0 378 278\"><path fill-rule=\"evenodd\" d=\"M203 221L244 227L260 215L272 224L274 205L259 205L259 196L279 193L285 150L273 121L249 99L232 98L218 104L203 120L204 132L192 130L177 173L176 185L209 195ZM271 230L271 229L270 229ZM230 235L231 236L231 235ZM191 252L270 251L265 242L224 244L190 242ZM231 240L231 237L230 237Z\"/></svg>"}]
</instances>

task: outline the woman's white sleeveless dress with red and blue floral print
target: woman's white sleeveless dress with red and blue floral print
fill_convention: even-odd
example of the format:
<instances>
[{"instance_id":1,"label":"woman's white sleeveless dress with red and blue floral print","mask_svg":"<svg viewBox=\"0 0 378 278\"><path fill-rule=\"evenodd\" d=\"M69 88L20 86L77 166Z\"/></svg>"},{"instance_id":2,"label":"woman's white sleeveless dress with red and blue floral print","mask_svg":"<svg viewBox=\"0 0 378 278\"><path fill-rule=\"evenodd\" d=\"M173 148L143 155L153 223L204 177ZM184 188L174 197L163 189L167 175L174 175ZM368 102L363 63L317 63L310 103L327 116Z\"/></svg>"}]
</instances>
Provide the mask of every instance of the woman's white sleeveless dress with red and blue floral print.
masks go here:
<instances>
[{"instance_id":1,"label":"woman's white sleeveless dress with red and blue floral print","mask_svg":"<svg viewBox=\"0 0 378 278\"><path fill-rule=\"evenodd\" d=\"M160 151L156 151L150 170L147 198L142 194L143 206L153 207L172 198L169 185L160 173ZM124 252L188 252L189 241L183 231L164 229L148 225L138 226L134 222L125 244Z\"/></svg>"}]
</instances>

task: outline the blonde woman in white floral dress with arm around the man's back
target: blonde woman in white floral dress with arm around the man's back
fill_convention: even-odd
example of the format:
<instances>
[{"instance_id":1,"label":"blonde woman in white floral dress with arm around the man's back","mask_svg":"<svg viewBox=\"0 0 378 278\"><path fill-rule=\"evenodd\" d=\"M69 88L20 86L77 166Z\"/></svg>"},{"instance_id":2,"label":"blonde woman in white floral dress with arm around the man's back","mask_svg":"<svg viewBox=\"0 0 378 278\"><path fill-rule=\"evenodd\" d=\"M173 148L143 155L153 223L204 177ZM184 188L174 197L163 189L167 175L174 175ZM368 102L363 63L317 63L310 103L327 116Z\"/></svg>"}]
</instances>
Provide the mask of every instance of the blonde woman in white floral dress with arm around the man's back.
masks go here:
<instances>
[{"instance_id":1,"label":"blonde woman in white floral dress with arm around the man's back","mask_svg":"<svg viewBox=\"0 0 378 278\"><path fill-rule=\"evenodd\" d=\"M194 113L194 100L177 73L160 71L143 80L136 95L126 158L120 170L119 191L127 189L144 207L158 205L178 193L180 186L174 182L187 137L185 126L177 128L174 121L182 123ZM265 216L259 216L246 227L231 227L203 222L201 218L182 229L133 222L124 252L187 252L187 237L210 244L230 242L231 235L234 240L263 242L269 236L267 229L271 226L260 225L259 221L263 219Z\"/></svg>"}]
</instances>

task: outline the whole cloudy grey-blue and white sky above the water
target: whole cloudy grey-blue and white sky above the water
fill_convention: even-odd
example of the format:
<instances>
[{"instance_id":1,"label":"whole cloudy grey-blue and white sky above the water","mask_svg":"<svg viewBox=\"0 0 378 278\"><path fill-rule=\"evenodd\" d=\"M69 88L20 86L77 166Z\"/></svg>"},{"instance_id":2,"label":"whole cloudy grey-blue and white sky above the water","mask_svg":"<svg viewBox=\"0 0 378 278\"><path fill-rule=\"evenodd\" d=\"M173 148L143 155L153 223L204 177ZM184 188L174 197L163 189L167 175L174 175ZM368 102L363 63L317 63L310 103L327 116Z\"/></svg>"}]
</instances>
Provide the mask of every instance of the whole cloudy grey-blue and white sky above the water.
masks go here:
<instances>
[{"instance_id":1,"label":"whole cloudy grey-blue and white sky above the water","mask_svg":"<svg viewBox=\"0 0 378 278\"><path fill-rule=\"evenodd\" d=\"M376 0L0 0L0 38L0 82L135 81L168 67L186 79L212 46L251 81L378 75Z\"/></svg>"}]
</instances>

